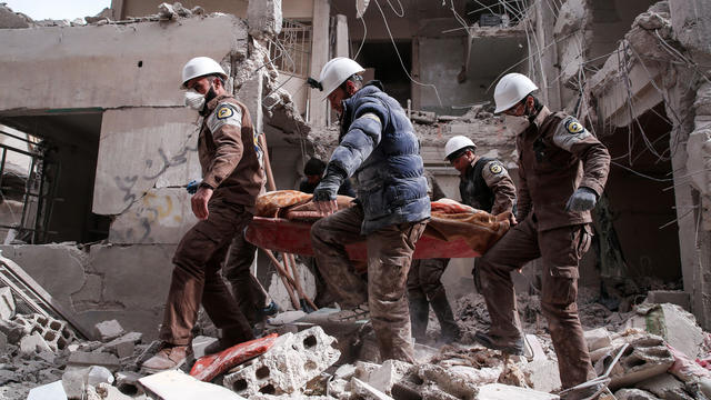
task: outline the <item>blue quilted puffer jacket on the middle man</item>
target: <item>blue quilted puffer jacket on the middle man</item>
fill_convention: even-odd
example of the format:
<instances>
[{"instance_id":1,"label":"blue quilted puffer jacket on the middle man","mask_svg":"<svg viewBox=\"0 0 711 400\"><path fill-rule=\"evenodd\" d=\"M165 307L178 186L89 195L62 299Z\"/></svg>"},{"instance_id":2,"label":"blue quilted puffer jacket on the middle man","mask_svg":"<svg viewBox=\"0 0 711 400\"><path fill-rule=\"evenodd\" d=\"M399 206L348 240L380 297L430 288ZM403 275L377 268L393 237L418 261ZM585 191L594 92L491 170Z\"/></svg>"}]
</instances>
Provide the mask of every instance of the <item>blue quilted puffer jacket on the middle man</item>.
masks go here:
<instances>
[{"instance_id":1,"label":"blue quilted puffer jacket on the middle man","mask_svg":"<svg viewBox=\"0 0 711 400\"><path fill-rule=\"evenodd\" d=\"M372 81L344 100L343 109L329 170L358 180L361 233L430 218L420 146L402 107Z\"/></svg>"}]
</instances>

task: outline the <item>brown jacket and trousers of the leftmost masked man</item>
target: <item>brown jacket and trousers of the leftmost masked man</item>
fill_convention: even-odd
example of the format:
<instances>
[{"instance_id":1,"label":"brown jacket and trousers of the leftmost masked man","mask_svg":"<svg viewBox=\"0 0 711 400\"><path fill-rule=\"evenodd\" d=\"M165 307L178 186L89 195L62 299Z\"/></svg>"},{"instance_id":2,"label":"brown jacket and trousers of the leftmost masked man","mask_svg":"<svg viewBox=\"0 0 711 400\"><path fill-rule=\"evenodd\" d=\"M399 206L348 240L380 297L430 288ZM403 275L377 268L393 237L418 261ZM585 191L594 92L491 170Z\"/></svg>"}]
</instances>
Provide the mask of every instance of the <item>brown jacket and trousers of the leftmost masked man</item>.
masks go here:
<instances>
[{"instance_id":1,"label":"brown jacket and trousers of the leftmost masked man","mask_svg":"<svg viewBox=\"0 0 711 400\"><path fill-rule=\"evenodd\" d=\"M263 184L262 149L247 108L231 96L208 103L198 139L203 182L214 188L207 220L182 238L173 257L172 280L160 339L177 346L191 341L200 303L223 336L236 342L253 338L220 269L232 239L252 220ZM249 269L247 270L249 273Z\"/></svg>"}]
</instances>

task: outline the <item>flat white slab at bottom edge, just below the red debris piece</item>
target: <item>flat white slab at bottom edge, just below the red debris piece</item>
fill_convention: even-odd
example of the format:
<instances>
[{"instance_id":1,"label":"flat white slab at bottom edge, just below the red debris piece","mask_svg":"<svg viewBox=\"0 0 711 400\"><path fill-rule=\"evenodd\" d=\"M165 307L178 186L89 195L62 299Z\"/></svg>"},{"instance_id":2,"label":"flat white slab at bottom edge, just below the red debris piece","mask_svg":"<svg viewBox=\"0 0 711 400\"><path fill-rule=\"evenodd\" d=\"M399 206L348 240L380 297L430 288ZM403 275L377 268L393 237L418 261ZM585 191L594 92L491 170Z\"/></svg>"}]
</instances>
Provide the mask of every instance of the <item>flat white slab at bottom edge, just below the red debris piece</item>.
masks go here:
<instances>
[{"instance_id":1,"label":"flat white slab at bottom edge, just below the red debris piece","mask_svg":"<svg viewBox=\"0 0 711 400\"><path fill-rule=\"evenodd\" d=\"M227 388L199 381L181 371L166 371L139 379L147 392L163 400L210 399L243 400Z\"/></svg>"}]
</instances>

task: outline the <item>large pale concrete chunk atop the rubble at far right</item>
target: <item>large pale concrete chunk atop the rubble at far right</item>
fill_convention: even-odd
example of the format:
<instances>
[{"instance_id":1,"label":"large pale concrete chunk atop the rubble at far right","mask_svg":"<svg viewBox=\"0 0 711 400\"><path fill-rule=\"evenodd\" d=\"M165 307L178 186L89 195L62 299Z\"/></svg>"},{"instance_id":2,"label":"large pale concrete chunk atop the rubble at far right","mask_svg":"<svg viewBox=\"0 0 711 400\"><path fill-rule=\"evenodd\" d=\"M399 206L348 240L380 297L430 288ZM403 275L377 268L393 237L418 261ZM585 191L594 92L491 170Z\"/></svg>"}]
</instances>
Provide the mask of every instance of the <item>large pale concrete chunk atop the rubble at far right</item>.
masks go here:
<instances>
[{"instance_id":1,"label":"large pale concrete chunk atop the rubble at far right","mask_svg":"<svg viewBox=\"0 0 711 400\"><path fill-rule=\"evenodd\" d=\"M671 347L695 358L702 348L703 330L697 319L681 307L671 303L642 303L635 309L637 316L624 323L624 328L637 328L662 337Z\"/></svg>"}]
</instances>

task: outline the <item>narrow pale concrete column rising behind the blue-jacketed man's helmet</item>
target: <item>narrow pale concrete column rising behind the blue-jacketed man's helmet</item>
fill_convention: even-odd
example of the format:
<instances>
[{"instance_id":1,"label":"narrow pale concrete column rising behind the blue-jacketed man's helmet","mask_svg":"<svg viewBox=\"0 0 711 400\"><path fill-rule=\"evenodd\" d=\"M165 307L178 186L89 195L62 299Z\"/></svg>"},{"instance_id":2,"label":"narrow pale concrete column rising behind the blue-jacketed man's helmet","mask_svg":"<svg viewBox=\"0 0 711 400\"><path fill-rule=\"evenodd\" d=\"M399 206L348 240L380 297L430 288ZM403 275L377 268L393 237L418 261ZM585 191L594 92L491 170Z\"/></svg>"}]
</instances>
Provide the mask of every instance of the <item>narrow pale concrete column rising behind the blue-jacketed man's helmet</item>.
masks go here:
<instances>
[{"instance_id":1,"label":"narrow pale concrete column rising behind the blue-jacketed man's helmet","mask_svg":"<svg viewBox=\"0 0 711 400\"><path fill-rule=\"evenodd\" d=\"M311 32L311 76L318 79L321 68L329 60L329 0L313 0ZM326 127L327 102L321 101L323 92L309 89L309 119L313 127Z\"/></svg>"}]
</instances>

